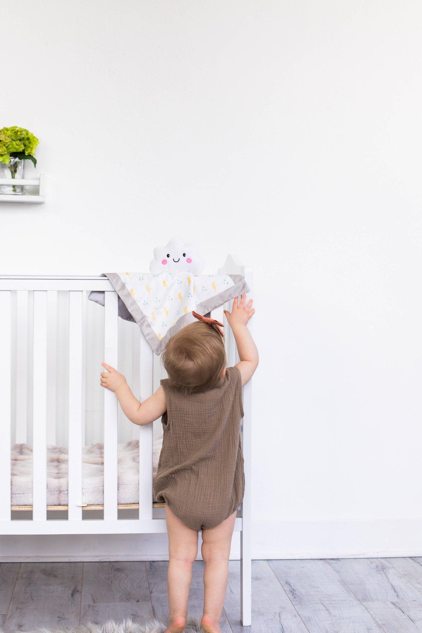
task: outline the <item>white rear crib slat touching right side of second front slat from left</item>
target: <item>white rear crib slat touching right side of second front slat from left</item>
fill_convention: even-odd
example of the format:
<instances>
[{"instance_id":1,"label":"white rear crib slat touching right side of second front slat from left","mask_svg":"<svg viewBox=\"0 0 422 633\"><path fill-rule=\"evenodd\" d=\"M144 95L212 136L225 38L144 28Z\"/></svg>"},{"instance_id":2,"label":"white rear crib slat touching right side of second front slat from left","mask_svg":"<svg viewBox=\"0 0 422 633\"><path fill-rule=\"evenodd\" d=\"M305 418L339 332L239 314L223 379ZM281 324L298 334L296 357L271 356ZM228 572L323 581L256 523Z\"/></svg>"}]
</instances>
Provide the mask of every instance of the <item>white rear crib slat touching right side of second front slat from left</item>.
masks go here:
<instances>
[{"instance_id":1,"label":"white rear crib slat touching right side of second front slat from left","mask_svg":"<svg viewBox=\"0 0 422 633\"><path fill-rule=\"evenodd\" d=\"M47 291L47 444L56 444L57 291Z\"/></svg>"}]
</instances>

